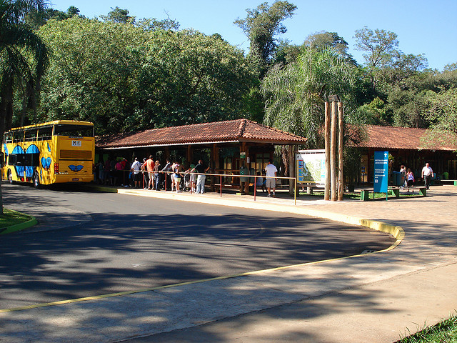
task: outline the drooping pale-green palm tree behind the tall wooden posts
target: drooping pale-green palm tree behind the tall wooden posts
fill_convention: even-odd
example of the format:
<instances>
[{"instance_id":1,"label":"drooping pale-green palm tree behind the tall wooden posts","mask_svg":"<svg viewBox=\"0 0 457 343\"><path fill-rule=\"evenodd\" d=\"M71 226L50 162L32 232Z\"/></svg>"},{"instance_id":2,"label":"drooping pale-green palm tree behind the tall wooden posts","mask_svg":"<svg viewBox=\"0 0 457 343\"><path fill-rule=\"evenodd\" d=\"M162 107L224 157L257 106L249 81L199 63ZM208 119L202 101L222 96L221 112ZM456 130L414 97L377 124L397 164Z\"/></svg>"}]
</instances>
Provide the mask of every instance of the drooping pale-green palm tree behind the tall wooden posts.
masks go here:
<instances>
[{"instance_id":1,"label":"drooping pale-green palm tree behind the tall wooden posts","mask_svg":"<svg viewBox=\"0 0 457 343\"><path fill-rule=\"evenodd\" d=\"M356 67L335 49L303 49L296 62L274 67L263 79L265 124L306 136L310 148L321 147L325 101L337 94L351 106L355 81Z\"/></svg>"}]
</instances>

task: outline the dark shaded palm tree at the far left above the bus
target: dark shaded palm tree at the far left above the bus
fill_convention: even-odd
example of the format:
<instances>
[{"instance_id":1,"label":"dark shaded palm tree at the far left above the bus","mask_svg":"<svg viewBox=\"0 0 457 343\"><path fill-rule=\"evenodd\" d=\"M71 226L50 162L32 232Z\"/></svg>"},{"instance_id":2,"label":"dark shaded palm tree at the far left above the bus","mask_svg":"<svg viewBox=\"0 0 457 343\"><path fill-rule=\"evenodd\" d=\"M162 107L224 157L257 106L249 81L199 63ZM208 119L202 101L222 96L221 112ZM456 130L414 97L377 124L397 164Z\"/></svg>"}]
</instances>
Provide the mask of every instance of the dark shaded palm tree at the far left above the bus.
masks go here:
<instances>
[{"instance_id":1,"label":"dark shaded palm tree at the far left above the bus","mask_svg":"<svg viewBox=\"0 0 457 343\"><path fill-rule=\"evenodd\" d=\"M31 11L43 11L41 0L0 0L0 135L11 128L14 89L22 85L32 109L49 61L44 41L25 24ZM3 202L0 189L0 214Z\"/></svg>"}]
</instances>

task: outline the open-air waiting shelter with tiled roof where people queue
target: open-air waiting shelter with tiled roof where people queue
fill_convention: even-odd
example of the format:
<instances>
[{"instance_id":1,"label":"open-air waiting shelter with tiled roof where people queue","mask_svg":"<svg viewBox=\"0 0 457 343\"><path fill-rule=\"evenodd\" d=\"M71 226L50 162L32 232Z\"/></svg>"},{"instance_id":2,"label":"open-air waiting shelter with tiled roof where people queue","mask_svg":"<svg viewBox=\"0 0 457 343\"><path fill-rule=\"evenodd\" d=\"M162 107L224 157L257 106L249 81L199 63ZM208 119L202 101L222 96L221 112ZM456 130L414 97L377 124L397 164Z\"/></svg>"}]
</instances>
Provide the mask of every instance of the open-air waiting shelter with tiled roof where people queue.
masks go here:
<instances>
[{"instance_id":1,"label":"open-air waiting shelter with tiled roof where people queue","mask_svg":"<svg viewBox=\"0 0 457 343\"><path fill-rule=\"evenodd\" d=\"M273 129L248 119L149 129L129 134L100 137L96 152L111 157L153 155L164 163L176 159L184 165L202 159L213 174L240 174L246 167L252 174L262 172L268 159L273 159L275 146L289 146L289 174L295 176L294 152L306 144L306 138ZM240 178L225 177L227 187L241 187ZM211 178L214 188L216 179ZM245 182L244 191L248 191Z\"/></svg>"}]
</instances>

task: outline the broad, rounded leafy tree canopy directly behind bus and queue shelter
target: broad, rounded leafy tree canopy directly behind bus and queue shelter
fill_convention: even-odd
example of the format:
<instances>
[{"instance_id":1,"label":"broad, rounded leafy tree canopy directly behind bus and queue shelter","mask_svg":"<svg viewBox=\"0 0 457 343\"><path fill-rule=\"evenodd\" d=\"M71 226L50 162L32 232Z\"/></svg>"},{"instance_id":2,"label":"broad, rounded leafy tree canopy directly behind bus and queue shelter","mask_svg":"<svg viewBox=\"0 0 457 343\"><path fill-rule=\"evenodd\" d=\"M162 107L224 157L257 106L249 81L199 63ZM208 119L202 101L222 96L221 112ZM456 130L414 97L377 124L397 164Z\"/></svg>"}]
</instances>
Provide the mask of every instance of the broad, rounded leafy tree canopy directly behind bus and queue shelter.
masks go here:
<instances>
[{"instance_id":1,"label":"broad, rounded leafy tree canopy directly behind bus and queue shelter","mask_svg":"<svg viewBox=\"0 0 457 343\"><path fill-rule=\"evenodd\" d=\"M198 31L49 21L54 51L36 121L94 121L99 134L234 119L255 81L241 51Z\"/></svg>"}]
</instances>

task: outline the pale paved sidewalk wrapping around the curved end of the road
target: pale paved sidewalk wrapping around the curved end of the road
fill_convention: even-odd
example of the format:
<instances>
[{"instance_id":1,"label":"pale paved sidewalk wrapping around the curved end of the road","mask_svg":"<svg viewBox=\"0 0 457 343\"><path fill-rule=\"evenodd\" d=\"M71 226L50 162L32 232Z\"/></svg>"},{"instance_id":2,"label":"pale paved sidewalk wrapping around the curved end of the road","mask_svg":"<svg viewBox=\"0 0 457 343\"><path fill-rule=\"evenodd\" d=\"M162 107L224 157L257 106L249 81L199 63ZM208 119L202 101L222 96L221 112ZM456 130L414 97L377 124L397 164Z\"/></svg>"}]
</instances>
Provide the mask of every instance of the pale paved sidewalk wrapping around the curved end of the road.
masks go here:
<instances>
[{"instance_id":1,"label":"pale paved sidewalk wrapping around the curved end of the road","mask_svg":"<svg viewBox=\"0 0 457 343\"><path fill-rule=\"evenodd\" d=\"M289 199L258 198L254 203L251 197L240 201L216 199L216 194L167 194L225 206L358 217L399 225L406 237L388 252L0 313L0 339L393 342L457 309L456 195L457 187L441 186L432 187L428 197L388 202L300 199L293 206Z\"/></svg>"}]
</instances>

